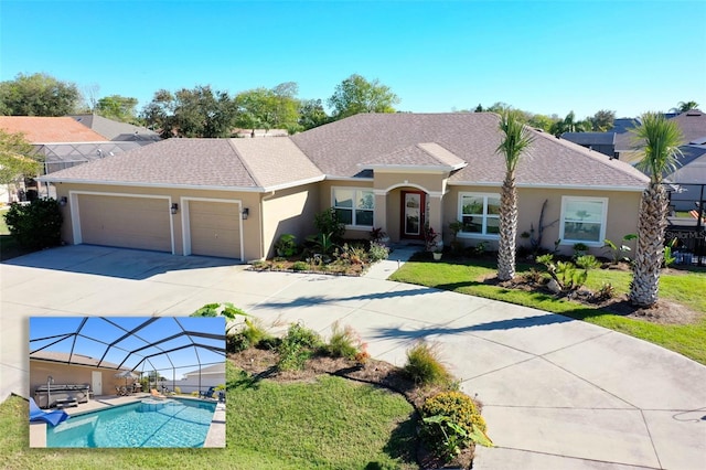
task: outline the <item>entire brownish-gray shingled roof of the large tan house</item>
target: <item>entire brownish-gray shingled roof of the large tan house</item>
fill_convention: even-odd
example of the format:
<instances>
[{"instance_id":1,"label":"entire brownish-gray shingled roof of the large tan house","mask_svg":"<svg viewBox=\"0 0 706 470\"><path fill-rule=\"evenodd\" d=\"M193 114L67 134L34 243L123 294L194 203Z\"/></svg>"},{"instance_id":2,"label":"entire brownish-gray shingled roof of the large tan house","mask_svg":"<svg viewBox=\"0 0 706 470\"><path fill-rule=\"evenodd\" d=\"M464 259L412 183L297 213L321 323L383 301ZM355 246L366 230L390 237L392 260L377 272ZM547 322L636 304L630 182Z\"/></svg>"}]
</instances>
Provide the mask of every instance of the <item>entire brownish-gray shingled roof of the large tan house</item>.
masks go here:
<instances>
[{"instance_id":1,"label":"entire brownish-gray shingled roof of the large tan house","mask_svg":"<svg viewBox=\"0 0 706 470\"><path fill-rule=\"evenodd\" d=\"M371 169L446 170L450 184L500 185L499 117L490 113L360 114L293 137L168 139L64 170L42 181L270 191L324 178L371 178ZM642 190L631 165L531 130L517 185Z\"/></svg>"}]
</instances>

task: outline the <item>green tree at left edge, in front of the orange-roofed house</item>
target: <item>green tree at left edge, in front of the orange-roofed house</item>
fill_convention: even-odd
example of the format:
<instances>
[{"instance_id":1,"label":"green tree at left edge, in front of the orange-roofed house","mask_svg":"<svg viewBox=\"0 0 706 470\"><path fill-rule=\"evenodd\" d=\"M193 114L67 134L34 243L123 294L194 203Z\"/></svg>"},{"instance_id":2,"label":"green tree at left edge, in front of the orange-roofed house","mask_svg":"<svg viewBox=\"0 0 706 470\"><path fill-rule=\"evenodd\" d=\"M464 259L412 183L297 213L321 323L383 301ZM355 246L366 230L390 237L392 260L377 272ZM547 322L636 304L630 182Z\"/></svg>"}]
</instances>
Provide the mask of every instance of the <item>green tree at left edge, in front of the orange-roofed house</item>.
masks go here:
<instances>
[{"instance_id":1,"label":"green tree at left edge, in front of the orange-roofed house","mask_svg":"<svg viewBox=\"0 0 706 470\"><path fill-rule=\"evenodd\" d=\"M0 129L0 184L34 178L42 170L43 157L22 133Z\"/></svg>"}]
</instances>

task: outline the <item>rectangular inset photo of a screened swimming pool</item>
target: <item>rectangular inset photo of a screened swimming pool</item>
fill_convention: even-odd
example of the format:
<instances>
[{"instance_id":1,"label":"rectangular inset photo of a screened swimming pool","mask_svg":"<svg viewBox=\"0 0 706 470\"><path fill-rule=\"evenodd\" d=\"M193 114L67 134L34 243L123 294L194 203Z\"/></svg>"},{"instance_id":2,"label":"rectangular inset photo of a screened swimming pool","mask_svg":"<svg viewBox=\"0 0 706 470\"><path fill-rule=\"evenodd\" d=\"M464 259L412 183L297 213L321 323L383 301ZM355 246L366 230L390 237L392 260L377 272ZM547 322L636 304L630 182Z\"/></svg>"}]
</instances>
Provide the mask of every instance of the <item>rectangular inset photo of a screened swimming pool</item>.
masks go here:
<instances>
[{"instance_id":1,"label":"rectangular inset photo of a screened swimming pool","mask_svg":"<svg viewBox=\"0 0 706 470\"><path fill-rule=\"evenodd\" d=\"M30 447L225 447L225 319L30 318Z\"/></svg>"}]
</instances>

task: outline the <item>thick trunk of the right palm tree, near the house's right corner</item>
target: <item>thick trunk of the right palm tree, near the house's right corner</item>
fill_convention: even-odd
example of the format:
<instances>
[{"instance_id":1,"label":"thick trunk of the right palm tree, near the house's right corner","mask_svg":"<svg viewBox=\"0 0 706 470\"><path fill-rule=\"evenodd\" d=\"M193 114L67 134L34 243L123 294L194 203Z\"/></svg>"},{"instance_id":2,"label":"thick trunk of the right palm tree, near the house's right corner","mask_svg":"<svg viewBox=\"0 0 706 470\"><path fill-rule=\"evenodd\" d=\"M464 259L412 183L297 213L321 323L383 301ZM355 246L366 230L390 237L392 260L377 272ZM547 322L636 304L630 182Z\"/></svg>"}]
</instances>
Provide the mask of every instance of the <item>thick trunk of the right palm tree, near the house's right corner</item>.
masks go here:
<instances>
[{"instance_id":1,"label":"thick trunk of the right palm tree, near the house's right corner","mask_svg":"<svg viewBox=\"0 0 706 470\"><path fill-rule=\"evenodd\" d=\"M638 248L630 285L630 300L639 307L651 307L657 301L660 269L664 259L667 205L664 186L655 182L650 183L640 202L642 215L638 222Z\"/></svg>"}]
</instances>

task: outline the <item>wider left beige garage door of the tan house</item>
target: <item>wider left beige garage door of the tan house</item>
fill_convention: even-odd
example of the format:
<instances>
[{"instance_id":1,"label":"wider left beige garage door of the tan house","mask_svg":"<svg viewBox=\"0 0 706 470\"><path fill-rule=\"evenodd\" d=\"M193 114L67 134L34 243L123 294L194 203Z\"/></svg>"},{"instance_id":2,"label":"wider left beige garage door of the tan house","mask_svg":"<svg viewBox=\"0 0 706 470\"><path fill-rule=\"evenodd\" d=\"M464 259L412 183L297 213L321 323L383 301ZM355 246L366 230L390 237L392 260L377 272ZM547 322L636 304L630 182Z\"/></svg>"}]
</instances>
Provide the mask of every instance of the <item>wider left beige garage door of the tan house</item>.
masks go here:
<instances>
[{"instance_id":1,"label":"wider left beige garage door of the tan house","mask_svg":"<svg viewBox=\"0 0 706 470\"><path fill-rule=\"evenodd\" d=\"M83 243L172 253L169 200L78 195Z\"/></svg>"}]
</instances>

